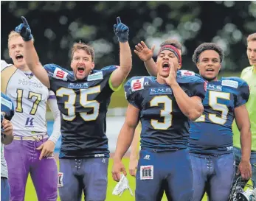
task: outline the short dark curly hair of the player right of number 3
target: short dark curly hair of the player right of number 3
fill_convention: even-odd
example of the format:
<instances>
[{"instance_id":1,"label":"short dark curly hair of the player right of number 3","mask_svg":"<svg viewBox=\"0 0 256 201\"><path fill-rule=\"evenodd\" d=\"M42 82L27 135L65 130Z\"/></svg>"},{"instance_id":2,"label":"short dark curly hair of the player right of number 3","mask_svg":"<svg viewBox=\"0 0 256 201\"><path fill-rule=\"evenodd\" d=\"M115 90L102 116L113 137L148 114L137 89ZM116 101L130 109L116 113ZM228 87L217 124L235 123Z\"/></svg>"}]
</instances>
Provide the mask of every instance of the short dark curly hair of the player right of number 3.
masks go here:
<instances>
[{"instance_id":1,"label":"short dark curly hair of the player right of number 3","mask_svg":"<svg viewBox=\"0 0 256 201\"><path fill-rule=\"evenodd\" d=\"M224 52L220 46L218 46L215 43L201 43L201 45L195 49L195 52L192 57L193 63L198 63L198 58L200 54L205 50L214 50L220 56L221 63L224 60Z\"/></svg>"}]
</instances>

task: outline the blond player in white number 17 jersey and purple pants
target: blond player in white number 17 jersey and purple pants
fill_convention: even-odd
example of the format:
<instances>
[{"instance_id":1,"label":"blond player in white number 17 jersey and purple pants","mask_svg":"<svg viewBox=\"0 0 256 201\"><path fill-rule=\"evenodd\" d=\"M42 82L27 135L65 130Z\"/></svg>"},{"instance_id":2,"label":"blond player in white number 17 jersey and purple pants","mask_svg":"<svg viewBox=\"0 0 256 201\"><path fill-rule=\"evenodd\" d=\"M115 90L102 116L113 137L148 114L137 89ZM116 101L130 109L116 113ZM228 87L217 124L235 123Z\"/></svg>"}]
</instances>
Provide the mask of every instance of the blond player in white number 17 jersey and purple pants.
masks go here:
<instances>
[{"instance_id":1,"label":"blond player in white number 17 jersey and purple pants","mask_svg":"<svg viewBox=\"0 0 256 201\"><path fill-rule=\"evenodd\" d=\"M10 200L24 200L30 173L39 201L57 200L58 168L53 157L60 137L60 111L55 94L49 91L30 71L24 59L24 40L10 32L8 49L14 65L1 61L1 92L12 99L12 144L4 147L10 183ZM52 135L46 133L46 105L55 122Z\"/></svg>"}]
</instances>

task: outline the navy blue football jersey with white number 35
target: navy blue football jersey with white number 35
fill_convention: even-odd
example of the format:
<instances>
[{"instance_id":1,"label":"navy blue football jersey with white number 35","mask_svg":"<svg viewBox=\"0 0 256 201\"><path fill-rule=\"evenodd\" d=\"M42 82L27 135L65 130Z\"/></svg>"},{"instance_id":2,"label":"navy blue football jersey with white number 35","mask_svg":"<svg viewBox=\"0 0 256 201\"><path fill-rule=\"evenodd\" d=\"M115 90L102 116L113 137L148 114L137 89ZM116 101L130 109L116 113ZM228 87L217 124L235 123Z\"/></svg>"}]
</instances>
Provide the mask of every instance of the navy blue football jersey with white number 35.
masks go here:
<instances>
[{"instance_id":1,"label":"navy blue football jersey with white number 35","mask_svg":"<svg viewBox=\"0 0 256 201\"><path fill-rule=\"evenodd\" d=\"M44 68L62 113L60 158L108 157L105 118L113 93L108 80L117 66L91 71L84 80L55 64Z\"/></svg>"}]
</instances>

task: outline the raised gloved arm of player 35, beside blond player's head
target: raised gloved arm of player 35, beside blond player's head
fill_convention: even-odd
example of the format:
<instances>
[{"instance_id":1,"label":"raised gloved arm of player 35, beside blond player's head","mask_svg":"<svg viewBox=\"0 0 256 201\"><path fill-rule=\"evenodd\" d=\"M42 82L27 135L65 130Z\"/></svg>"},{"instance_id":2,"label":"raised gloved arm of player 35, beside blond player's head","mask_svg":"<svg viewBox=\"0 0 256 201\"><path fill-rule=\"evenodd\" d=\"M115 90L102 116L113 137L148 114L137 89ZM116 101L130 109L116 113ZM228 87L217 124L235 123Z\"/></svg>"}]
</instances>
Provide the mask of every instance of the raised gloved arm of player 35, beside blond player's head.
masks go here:
<instances>
[{"instance_id":1,"label":"raised gloved arm of player 35, beside blond player's head","mask_svg":"<svg viewBox=\"0 0 256 201\"><path fill-rule=\"evenodd\" d=\"M26 18L21 17L23 24L18 25L15 28L15 32L18 32L24 40L24 58L27 66L30 68L35 77L38 78L47 88L50 88L49 77L41 65L38 54L35 51L34 41L31 34L30 25L27 23Z\"/></svg>"}]
</instances>

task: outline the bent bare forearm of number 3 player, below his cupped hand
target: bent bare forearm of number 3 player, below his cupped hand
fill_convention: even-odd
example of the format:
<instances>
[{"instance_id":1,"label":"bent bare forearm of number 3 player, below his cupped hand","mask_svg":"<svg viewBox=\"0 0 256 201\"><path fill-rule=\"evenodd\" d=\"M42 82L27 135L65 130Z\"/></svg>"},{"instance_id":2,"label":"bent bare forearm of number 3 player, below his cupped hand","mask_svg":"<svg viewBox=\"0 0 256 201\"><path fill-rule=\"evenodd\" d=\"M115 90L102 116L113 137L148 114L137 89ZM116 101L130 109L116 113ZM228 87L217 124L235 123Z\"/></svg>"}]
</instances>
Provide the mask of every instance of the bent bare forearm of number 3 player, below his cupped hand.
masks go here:
<instances>
[{"instance_id":1,"label":"bent bare forearm of number 3 player, below his cupped hand","mask_svg":"<svg viewBox=\"0 0 256 201\"><path fill-rule=\"evenodd\" d=\"M178 83L171 85L171 88L181 112L192 121L198 119L204 111L201 102L187 96Z\"/></svg>"}]
</instances>

